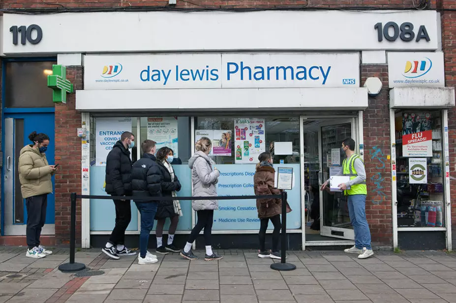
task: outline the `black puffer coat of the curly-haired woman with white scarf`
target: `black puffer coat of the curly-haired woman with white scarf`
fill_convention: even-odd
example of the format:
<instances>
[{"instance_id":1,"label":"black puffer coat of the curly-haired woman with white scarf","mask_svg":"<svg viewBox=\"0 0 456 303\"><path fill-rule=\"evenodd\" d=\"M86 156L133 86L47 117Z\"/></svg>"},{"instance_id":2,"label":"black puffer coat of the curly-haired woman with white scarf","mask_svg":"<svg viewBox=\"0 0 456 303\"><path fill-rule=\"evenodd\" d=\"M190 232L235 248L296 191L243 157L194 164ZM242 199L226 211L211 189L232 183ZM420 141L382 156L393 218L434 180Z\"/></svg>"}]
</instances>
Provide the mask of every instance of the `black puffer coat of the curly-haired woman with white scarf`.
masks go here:
<instances>
[{"instance_id":1,"label":"black puffer coat of the curly-haired woman with white scarf","mask_svg":"<svg viewBox=\"0 0 456 303\"><path fill-rule=\"evenodd\" d=\"M161 181L161 192L165 197L172 197L173 191L179 192L181 190L181 182L179 182L176 173L174 173L174 180L171 180L171 174L168 169L159 161L158 167L160 168L161 175L163 176L163 180ZM158 203L155 220L171 218L177 215L178 214L174 212L174 202L172 200L160 201Z\"/></svg>"}]
</instances>

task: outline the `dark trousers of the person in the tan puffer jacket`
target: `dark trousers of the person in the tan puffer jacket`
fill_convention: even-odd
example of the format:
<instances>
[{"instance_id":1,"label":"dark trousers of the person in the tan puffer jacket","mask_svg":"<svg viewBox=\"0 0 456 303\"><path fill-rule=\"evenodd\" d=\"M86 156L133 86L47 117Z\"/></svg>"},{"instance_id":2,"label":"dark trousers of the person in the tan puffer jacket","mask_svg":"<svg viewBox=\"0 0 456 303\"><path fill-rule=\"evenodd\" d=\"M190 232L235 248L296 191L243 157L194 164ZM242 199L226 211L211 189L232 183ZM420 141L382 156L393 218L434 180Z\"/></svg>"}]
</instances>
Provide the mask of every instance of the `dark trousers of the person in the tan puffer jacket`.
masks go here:
<instances>
[{"instance_id":1,"label":"dark trousers of the person in the tan puffer jacket","mask_svg":"<svg viewBox=\"0 0 456 303\"><path fill-rule=\"evenodd\" d=\"M48 195L40 194L26 198L27 208L27 246L34 248L40 244L41 229L46 221Z\"/></svg>"}]
</instances>

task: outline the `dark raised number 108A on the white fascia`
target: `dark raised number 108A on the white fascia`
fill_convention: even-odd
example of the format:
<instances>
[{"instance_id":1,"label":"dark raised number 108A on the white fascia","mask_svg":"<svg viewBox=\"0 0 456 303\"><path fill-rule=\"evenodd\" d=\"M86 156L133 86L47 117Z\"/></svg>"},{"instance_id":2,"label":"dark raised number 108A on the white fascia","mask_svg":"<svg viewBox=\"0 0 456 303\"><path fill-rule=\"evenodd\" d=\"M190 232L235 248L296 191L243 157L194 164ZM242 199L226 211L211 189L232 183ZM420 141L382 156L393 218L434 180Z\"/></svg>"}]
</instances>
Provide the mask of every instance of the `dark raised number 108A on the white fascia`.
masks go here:
<instances>
[{"instance_id":1,"label":"dark raised number 108A on the white fascia","mask_svg":"<svg viewBox=\"0 0 456 303\"><path fill-rule=\"evenodd\" d=\"M378 42L383 41L383 37L385 37L388 41L396 41L397 38L405 42L410 42L415 39L416 42L420 41L421 39L426 39L427 42L430 41L429 34L427 33L426 27L424 25L420 26L418 29L417 34L413 31L413 24L410 22L404 22L400 26L397 25L395 22L387 22L385 26L381 22L377 23L374 28L377 30ZM390 31L390 28L393 31ZM392 35L390 34L392 33Z\"/></svg>"}]
</instances>

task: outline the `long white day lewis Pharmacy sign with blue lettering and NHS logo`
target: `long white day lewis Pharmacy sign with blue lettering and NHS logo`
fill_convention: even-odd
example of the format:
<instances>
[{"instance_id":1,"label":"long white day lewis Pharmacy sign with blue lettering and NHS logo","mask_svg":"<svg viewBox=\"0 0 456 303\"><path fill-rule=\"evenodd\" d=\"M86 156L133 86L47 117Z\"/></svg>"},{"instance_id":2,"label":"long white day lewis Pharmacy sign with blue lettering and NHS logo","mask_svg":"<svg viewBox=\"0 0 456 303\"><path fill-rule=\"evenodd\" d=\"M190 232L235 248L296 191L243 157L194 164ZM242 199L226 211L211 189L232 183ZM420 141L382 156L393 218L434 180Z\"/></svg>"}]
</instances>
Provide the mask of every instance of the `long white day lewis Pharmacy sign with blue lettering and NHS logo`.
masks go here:
<instances>
[{"instance_id":1,"label":"long white day lewis Pharmacy sign with blue lettering and NHS logo","mask_svg":"<svg viewBox=\"0 0 456 303\"><path fill-rule=\"evenodd\" d=\"M86 55L84 88L359 87L359 54Z\"/></svg>"}]
</instances>

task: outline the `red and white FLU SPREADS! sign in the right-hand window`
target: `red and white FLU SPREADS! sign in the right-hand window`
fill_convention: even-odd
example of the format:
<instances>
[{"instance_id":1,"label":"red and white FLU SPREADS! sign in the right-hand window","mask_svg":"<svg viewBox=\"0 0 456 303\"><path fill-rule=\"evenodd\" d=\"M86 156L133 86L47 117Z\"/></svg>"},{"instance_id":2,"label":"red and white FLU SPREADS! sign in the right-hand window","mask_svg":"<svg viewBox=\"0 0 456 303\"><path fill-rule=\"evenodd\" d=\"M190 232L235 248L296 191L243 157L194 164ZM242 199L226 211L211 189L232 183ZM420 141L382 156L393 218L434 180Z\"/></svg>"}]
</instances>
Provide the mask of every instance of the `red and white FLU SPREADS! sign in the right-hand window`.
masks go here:
<instances>
[{"instance_id":1,"label":"red and white FLU SPREADS! sign in the right-hand window","mask_svg":"<svg viewBox=\"0 0 456 303\"><path fill-rule=\"evenodd\" d=\"M432 157L432 131L402 136L404 157Z\"/></svg>"}]
</instances>

